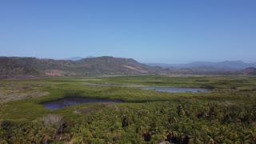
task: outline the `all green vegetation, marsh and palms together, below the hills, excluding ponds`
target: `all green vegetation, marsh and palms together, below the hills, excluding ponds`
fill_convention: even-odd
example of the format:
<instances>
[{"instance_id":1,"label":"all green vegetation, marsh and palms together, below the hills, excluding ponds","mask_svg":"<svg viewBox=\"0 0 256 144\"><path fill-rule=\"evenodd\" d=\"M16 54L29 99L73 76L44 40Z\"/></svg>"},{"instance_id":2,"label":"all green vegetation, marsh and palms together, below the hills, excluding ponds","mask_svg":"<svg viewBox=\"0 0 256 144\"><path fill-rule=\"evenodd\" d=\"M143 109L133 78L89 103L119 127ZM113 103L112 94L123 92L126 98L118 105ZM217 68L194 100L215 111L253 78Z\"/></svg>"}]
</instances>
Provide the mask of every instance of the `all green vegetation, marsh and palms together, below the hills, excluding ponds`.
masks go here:
<instances>
[{"instance_id":1,"label":"all green vegetation, marsh and palms together, below the hills, excluding ponds","mask_svg":"<svg viewBox=\"0 0 256 144\"><path fill-rule=\"evenodd\" d=\"M140 86L212 91L166 93L140 90ZM125 103L81 104L62 110L47 110L40 104L67 96ZM6 80L0 82L0 98L0 143L256 142L256 77Z\"/></svg>"}]
</instances>

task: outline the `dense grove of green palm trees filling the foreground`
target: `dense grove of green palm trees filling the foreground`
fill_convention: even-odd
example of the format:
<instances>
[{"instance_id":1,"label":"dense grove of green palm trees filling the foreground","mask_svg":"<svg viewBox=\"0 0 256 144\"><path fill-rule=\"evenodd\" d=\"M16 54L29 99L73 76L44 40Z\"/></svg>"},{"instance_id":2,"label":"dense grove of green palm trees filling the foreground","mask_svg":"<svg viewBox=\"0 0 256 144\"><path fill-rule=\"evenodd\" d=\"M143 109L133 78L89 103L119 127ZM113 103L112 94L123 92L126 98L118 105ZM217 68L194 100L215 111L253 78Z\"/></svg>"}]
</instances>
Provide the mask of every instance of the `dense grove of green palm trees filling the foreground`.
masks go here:
<instances>
[{"instance_id":1,"label":"dense grove of green palm trees filling the foreground","mask_svg":"<svg viewBox=\"0 0 256 144\"><path fill-rule=\"evenodd\" d=\"M1 122L0 143L256 143L256 106L231 102L104 104L62 117Z\"/></svg>"}]
</instances>

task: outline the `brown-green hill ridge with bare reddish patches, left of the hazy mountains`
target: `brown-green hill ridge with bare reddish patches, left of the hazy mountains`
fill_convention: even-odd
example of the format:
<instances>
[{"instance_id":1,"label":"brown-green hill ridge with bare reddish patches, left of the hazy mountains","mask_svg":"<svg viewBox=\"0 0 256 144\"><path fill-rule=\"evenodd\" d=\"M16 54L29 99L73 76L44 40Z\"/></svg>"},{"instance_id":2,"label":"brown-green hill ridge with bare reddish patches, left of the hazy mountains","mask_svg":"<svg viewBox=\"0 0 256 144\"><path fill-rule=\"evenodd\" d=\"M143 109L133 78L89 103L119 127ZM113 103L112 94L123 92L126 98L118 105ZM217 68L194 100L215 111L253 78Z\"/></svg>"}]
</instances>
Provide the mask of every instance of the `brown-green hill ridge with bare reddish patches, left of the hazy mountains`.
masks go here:
<instances>
[{"instance_id":1,"label":"brown-green hill ridge with bare reddish patches, left of the hazy mountains","mask_svg":"<svg viewBox=\"0 0 256 144\"><path fill-rule=\"evenodd\" d=\"M98 57L72 61L0 57L0 78L158 74L162 71L162 68L146 66L131 58Z\"/></svg>"}]
</instances>

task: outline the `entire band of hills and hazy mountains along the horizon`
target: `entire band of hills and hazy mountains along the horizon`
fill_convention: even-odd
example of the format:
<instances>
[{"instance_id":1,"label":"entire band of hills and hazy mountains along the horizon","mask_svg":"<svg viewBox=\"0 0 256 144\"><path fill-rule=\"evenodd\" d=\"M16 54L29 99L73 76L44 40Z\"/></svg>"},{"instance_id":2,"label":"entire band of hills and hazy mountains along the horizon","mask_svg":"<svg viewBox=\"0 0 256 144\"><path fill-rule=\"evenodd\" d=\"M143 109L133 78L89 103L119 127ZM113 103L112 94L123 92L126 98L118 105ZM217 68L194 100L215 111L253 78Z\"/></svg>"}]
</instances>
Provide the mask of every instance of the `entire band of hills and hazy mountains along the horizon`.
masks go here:
<instances>
[{"instance_id":1,"label":"entire band of hills and hazy mountains along the horizon","mask_svg":"<svg viewBox=\"0 0 256 144\"><path fill-rule=\"evenodd\" d=\"M142 64L132 58L46 58L0 57L0 78L102 76L127 74L256 74L256 63L242 61L191 62L182 65ZM244 70L245 69L245 70Z\"/></svg>"}]
</instances>

